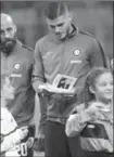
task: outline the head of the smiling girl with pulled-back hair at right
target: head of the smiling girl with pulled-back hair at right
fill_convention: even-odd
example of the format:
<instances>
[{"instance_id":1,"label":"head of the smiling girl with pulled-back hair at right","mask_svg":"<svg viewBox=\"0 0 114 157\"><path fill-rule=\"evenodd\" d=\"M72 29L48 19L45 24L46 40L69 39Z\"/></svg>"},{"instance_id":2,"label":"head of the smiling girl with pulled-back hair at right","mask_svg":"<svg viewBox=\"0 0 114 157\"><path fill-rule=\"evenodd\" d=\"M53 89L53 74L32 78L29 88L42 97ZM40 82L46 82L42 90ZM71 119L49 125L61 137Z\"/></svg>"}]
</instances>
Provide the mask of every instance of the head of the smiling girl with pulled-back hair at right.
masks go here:
<instances>
[{"instance_id":1,"label":"head of the smiling girl with pulled-back hair at right","mask_svg":"<svg viewBox=\"0 0 114 157\"><path fill-rule=\"evenodd\" d=\"M84 100L109 102L113 99L113 75L103 67L93 68L87 76L84 89Z\"/></svg>"}]
</instances>

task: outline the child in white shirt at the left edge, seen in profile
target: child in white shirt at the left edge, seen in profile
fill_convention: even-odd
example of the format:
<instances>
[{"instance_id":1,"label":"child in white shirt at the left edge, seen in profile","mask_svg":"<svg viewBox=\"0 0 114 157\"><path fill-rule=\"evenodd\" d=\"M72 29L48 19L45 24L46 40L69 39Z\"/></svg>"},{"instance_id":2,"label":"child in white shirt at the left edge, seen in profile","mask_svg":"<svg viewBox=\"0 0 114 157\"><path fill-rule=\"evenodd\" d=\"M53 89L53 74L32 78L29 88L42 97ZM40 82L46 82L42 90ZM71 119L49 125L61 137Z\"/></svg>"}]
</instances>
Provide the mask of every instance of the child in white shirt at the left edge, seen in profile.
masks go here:
<instances>
[{"instance_id":1,"label":"child in white shirt at the left edge, seen in profile","mask_svg":"<svg viewBox=\"0 0 114 157\"><path fill-rule=\"evenodd\" d=\"M18 144L28 133L26 127L17 128L12 114L7 109L7 101L12 99L14 99L14 89L10 86L9 78L5 78L5 83L1 88L1 156L20 156Z\"/></svg>"}]
</instances>

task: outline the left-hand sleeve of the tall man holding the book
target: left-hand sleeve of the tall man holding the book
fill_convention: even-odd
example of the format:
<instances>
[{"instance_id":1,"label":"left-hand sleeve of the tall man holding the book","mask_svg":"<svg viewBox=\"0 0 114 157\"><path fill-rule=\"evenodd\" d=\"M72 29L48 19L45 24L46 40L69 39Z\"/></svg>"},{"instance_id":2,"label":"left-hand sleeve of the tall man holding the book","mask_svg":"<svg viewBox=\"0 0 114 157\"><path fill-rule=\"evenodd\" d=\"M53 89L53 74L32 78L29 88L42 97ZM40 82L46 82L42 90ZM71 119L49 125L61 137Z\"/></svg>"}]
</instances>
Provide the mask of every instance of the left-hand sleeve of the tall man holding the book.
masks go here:
<instances>
[{"instance_id":1,"label":"left-hand sleeve of the tall man holding the book","mask_svg":"<svg viewBox=\"0 0 114 157\"><path fill-rule=\"evenodd\" d=\"M33 88L37 92L37 87L45 83L45 71L42 57L40 52L40 42L36 43L35 53L34 53L34 67L33 67L33 78L31 78Z\"/></svg>"}]
</instances>

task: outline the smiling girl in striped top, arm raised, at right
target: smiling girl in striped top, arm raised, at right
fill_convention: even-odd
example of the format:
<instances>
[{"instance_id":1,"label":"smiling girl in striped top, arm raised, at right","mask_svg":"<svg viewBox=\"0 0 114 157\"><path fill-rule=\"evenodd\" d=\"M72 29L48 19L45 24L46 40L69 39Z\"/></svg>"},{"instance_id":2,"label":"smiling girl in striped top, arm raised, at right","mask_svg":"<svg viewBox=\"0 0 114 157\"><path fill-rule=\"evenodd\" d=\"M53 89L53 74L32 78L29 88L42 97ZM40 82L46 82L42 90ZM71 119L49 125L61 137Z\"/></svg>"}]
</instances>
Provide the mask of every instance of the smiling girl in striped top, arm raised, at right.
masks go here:
<instances>
[{"instance_id":1,"label":"smiling girl in striped top, arm raised, at right","mask_svg":"<svg viewBox=\"0 0 114 157\"><path fill-rule=\"evenodd\" d=\"M67 119L67 136L80 134L85 157L113 157L113 75L109 69L88 74L84 100Z\"/></svg>"}]
</instances>

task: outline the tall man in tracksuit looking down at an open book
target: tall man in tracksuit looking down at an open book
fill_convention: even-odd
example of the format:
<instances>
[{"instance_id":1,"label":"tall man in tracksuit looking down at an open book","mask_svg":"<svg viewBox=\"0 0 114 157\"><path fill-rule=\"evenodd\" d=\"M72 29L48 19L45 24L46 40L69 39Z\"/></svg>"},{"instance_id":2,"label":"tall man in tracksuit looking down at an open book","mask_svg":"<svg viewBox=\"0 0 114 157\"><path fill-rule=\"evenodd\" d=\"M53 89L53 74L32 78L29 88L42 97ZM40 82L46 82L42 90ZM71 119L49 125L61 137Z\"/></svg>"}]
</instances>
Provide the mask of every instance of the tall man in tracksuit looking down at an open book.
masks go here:
<instances>
[{"instance_id":1,"label":"tall man in tracksuit looking down at an open book","mask_svg":"<svg viewBox=\"0 0 114 157\"><path fill-rule=\"evenodd\" d=\"M87 73L96 66L107 66L100 42L72 24L66 4L51 2L46 10L50 32L36 43L33 87L40 93L40 84L52 84L58 74L77 78L74 96L47 93L45 129L46 157L80 157L76 139L65 135L65 122L75 105L81 102ZM43 105L40 106L43 112ZM46 106L45 106L46 109Z\"/></svg>"}]
</instances>

